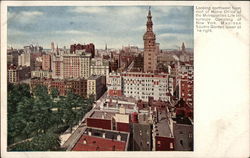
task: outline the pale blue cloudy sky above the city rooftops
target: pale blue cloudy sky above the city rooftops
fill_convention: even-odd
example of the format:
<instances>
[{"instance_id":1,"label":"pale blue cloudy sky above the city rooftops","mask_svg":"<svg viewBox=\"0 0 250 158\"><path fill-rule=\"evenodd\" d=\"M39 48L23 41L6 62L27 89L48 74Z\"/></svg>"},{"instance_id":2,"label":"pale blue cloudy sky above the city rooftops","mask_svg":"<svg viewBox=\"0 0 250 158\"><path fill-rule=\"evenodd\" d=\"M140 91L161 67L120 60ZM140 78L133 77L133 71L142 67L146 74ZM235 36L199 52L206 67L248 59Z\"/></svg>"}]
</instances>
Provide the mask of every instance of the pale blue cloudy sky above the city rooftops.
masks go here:
<instances>
[{"instance_id":1,"label":"pale blue cloudy sky above the city rooftops","mask_svg":"<svg viewBox=\"0 0 250 158\"><path fill-rule=\"evenodd\" d=\"M96 48L143 48L147 6L8 7L8 46L39 44L50 48L94 43ZM193 7L151 7L156 42L161 49L185 42L193 48Z\"/></svg>"}]
</instances>

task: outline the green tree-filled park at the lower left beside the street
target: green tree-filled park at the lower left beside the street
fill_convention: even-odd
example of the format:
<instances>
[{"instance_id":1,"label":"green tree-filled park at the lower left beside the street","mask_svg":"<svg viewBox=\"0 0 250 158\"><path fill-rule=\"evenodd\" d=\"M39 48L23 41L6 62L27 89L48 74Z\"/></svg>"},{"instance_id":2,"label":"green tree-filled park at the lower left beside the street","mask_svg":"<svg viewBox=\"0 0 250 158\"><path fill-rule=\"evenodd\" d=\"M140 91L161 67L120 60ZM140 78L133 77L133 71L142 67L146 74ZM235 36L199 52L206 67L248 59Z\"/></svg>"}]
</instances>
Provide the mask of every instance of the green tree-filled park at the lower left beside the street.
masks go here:
<instances>
[{"instance_id":1,"label":"green tree-filled park at the lower left beside the street","mask_svg":"<svg viewBox=\"0 0 250 158\"><path fill-rule=\"evenodd\" d=\"M8 84L8 151L58 151L59 136L79 124L94 99L38 85Z\"/></svg>"}]
</instances>

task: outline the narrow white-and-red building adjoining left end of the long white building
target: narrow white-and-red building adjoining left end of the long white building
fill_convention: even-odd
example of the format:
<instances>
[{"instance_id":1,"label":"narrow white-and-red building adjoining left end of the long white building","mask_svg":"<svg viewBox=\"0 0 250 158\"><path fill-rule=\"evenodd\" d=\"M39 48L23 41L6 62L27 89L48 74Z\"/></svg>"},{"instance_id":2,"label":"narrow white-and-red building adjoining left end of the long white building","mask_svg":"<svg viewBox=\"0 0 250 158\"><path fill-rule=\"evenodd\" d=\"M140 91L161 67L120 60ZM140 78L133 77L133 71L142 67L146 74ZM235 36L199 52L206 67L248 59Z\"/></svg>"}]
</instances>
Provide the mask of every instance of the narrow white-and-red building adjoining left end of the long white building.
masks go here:
<instances>
[{"instance_id":1,"label":"narrow white-and-red building adjoining left end of the long white building","mask_svg":"<svg viewBox=\"0 0 250 158\"><path fill-rule=\"evenodd\" d=\"M109 96L122 96L122 77L119 73L112 72L107 77Z\"/></svg>"}]
</instances>

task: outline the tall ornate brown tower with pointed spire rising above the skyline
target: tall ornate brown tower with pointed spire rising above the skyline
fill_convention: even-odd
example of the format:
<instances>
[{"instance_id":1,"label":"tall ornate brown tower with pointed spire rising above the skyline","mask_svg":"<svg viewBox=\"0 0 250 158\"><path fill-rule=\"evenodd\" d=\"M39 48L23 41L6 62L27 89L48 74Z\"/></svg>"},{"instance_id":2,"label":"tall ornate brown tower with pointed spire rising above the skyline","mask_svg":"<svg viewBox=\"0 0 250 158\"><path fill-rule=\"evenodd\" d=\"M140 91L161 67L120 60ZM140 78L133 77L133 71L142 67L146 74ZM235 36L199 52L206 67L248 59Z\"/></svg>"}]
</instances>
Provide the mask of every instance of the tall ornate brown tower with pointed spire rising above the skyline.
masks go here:
<instances>
[{"instance_id":1,"label":"tall ornate brown tower with pointed spire rising above the skyline","mask_svg":"<svg viewBox=\"0 0 250 158\"><path fill-rule=\"evenodd\" d=\"M157 66L157 49L151 11L148 11L147 31L143 36L144 40L144 72L154 72Z\"/></svg>"}]
</instances>

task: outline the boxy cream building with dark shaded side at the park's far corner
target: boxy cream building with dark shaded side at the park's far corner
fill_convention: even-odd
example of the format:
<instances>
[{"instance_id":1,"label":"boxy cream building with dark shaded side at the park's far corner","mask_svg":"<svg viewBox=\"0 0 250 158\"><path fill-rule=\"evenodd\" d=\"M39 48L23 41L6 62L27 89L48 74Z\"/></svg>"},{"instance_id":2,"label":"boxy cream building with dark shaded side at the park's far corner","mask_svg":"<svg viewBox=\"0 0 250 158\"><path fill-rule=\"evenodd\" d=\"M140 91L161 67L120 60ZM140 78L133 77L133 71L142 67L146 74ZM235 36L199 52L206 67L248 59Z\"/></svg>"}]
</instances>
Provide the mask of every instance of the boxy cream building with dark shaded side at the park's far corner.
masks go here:
<instances>
[{"instance_id":1,"label":"boxy cream building with dark shaded side at the park's far corner","mask_svg":"<svg viewBox=\"0 0 250 158\"><path fill-rule=\"evenodd\" d=\"M104 76L90 76L87 79L87 96L94 96L94 99L99 99L106 91Z\"/></svg>"}]
</instances>

